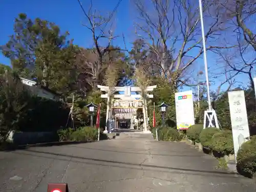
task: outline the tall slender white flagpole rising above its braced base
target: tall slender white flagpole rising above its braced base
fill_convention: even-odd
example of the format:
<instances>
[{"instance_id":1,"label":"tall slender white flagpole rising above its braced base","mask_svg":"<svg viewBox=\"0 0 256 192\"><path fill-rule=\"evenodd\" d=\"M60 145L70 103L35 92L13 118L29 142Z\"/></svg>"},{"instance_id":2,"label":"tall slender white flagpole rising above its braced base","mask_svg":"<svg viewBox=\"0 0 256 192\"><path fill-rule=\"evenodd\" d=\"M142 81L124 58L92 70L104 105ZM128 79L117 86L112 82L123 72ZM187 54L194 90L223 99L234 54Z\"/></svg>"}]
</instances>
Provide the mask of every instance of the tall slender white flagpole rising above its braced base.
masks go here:
<instances>
[{"instance_id":1,"label":"tall slender white flagpole rising above its braced base","mask_svg":"<svg viewBox=\"0 0 256 192\"><path fill-rule=\"evenodd\" d=\"M201 18L203 50L204 50L203 54L204 54L204 68L205 68L205 78L206 78L206 86L207 86L208 110L210 111L211 110L210 89L209 89L209 77L208 77L208 67L207 67L207 59L206 59L205 37L204 37L203 8L202 8L202 1L201 0L199 0L199 9L200 9L200 18Z\"/></svg>"}]
</instances>

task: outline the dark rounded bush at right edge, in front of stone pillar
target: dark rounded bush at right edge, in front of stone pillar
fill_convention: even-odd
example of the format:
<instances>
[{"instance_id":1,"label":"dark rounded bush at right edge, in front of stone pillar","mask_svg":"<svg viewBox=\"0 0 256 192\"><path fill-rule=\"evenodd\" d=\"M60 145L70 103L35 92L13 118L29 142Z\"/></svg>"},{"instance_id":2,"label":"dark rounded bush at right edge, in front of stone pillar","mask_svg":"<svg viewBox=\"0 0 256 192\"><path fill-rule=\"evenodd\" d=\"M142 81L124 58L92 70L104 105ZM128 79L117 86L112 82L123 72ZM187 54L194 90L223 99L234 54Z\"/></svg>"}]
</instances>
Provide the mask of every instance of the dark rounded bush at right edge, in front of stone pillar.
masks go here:
<instances>
[{"instance_id":1,"label":"dark rounded bush at right edge, in front of stone pillar","mask_svg":"<svg viewBox=\"0 0 256 192\"><path fill-rule=\"evenodd\" d=\"M256 172L256 135L240 147L237 154L237 169L250 178Z\"/></svg>"}]
</instances>

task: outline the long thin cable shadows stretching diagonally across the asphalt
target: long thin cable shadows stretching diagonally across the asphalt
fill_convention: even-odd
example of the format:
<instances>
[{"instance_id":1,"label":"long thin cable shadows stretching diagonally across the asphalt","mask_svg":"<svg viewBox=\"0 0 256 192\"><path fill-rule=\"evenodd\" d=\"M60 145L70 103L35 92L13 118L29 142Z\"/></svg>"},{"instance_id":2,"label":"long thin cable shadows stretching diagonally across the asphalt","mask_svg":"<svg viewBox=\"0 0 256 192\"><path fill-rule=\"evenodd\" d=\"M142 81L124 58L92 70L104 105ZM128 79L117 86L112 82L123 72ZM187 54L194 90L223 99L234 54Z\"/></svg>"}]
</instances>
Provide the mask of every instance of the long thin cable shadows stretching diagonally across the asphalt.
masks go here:
<instances>
[{"instance_id":1,"label":"long thin cable shadows stretching diagonally across the asphalt","mask_svg":"<svg viewBox=\"0 0 256 192\"><path fill-rule=\"evenodd\" d=\"M166 166L157 166L157 165L144 165L142 163L136 164L136 163L127 163L127 162L120 162L120 161L109 161L109 160L101 160L101 159L94 159L94 158L86 158L86 157L77 157L77 156L72 156L72 155L65 155L65 154L56 154L56 153L50 153L50 152L39 152L39 151L34 151L34 150L26 150L27 152L32 152L34 154L26 154L26 153L21 153L21 152L13 152L15 154L20 154L20 155L29 155L29 156L36 156L36 157L42 157L42 158L51 158L55 160L62 160L62 161L71 161L71 162L76 162L76 163L86 163L86 164L91 164L91 165L100 165L100 166L113 166L113 167L120 167L120 168L132 168L132 169L138 169L138 170L149 170L149 171L161 171L161 172L167 172L167 173L177 173L180 174L181 172L186 172L186 174L190 175L199 175L199 176L211 176L211 177L236 177L238 174L236 173L227 173L227 172L218 172L218 171L209 171L209 170L195 170L195 169L188 169L188 168L176 168L176 167L166 167ZM57 157L44 157L40 155L35 155L35 153L38 154L47 154L47 155L54 155L54 156L60 156L60 157L68 157L71 159L61 159ZM95 161L94 163L92 162L83 162L83 161L77 161L77 160L72 160L72 158L75 159L81 159L81 160L91 160ZM110 164L101 164L97 162L102 162L102 163L110 163ZM111 164L113 163L113 164ZM119 165L115 165L119 164ZM129 167L125 166L129 165ZM135 167L130 167L130 166L135 166ZM151 169L155 168L155 169ZM159 170L163 169L163 170Z\"/></svg>"}]
</instances>

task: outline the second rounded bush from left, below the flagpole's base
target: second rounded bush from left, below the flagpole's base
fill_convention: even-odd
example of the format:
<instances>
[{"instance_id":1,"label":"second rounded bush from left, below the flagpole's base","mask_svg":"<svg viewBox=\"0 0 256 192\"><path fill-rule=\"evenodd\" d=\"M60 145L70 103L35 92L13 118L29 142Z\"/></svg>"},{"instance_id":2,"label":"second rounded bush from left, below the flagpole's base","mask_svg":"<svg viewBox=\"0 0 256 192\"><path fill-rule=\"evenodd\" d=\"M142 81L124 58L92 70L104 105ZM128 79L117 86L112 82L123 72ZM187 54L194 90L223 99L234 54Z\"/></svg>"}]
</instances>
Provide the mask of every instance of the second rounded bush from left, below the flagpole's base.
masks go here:
<instances>
[{"instance_id":1,"label":"second rounded bush from left, below the flagpole's base","mask_svg":"<svg viewBox=\"0 0 256 192\"><path fill-rule=\"evenodd\" d=\"M214 134L219 133L220 129L216 127L208 127L201 131L199 135L199 139L201 144L204 147L210 147L211 146L211 138L214 136Z\"/></svg>"}]
</instances>

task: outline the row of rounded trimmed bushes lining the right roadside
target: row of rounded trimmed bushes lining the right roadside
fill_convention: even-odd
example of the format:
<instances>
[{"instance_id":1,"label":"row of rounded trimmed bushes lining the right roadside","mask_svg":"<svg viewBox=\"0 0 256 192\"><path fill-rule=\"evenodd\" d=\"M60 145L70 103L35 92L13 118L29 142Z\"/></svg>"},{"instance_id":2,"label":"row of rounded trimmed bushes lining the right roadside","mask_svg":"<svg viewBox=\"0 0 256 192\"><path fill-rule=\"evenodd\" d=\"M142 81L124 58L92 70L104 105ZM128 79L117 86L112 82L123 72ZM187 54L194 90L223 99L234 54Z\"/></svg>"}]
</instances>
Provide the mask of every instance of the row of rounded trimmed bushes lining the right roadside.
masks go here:
<instances>
[{"instance_id":1,"label":"row of rounded trimmed bushes lining the right roadside","mask_svg":"<svg viewBox=\"0 0 256 192\"><path fill-rule=\"evenodd\" d=\"M194 142L200 142L204 147L221 156L234 154L230 130L220 130L215 127L203 129L202 124L196 124L189 127L187 137ZM256 173L256 136L252 136L240 147L237 154L237 169L248 177Z\"/></svg>"}]
</instances>

